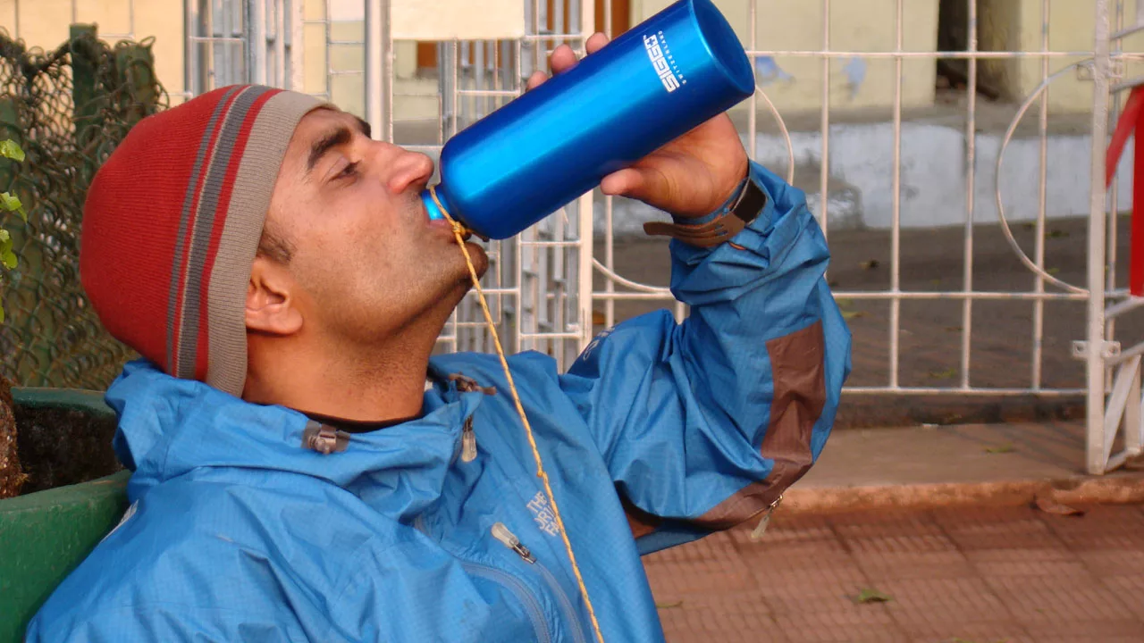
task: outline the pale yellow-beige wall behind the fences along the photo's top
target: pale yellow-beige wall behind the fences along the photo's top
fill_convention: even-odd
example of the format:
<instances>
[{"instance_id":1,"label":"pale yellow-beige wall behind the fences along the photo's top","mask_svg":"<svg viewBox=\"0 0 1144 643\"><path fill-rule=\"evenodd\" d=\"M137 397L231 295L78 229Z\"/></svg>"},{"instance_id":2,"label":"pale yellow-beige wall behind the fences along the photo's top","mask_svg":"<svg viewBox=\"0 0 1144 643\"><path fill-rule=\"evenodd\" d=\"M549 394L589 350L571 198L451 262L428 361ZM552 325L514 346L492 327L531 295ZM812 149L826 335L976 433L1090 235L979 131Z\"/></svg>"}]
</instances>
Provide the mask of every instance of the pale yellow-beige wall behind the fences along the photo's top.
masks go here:
<instances>
[{"instance_id":1,"label":"pale yellow-beige wall behind the fences along the photo's top","mask_svg":"<svg viewBox=\"0 0 1144 643\"><path fill-rule=\"evenodd\" d=\"M474 0L479 1L479 0ZM670 3L672 0L631 0L631 23L636 24ZM823 45L821 2L811 0L757 0L756 47L758 49L817 49ZM982 49L1036 50L1041 47L1041 0L979 0ZM73 0L0 0L0 26L16 32L29 45L43 48L58 46L67 38ZM127 0L74 0L77 19L96 23L102 34L132 30ZM728 16L740 40L749 41L748 0L715 0ZM358 2L336 0L335 11L345 13ZM937 42L938 0L905 2L904 48L932 49ZM342 7L344 6L344 7ZM895 40L896 0L845 0L831 3L831 48L835 50L887 50ZM325 0L305 0L307 19L323 21ZM340 8L341 7L341 8ZM1050 48L1088 50L1093 47L1095 11L1087 0L1055 0L1049 21ZM1135 2L1126 2L1125 21L1135 22ZM363 24L359 16L334 15L331 35L335 40L359 40ZM349 18L349 19L344 19ZM182 0L136 0L134 34L137 39L154 37L156 68L159 79L178 102L183 90L183 10ZM304 27L304 87L309 93L326 92L326 71L360 70L364 51L360 46L333 46L326 55L326 27ZM1125 40L1125 48L1139 51L1144 34ZM396 46L397 80L395 82L395 117L400 120L431 119L437 113L437 84L414 74L415 51L412 42ZM784 112L818 110L821 105L823 63L812 57L781 57L776 61L791 76L773 80L764 90ZM1073 62L1054 58L1049 72ZM895 64L891 59L865 59L865 78L852 85L852 72L861 63L832 59L829 63L831 105L835 109L887 108L892 105ZM1041 63L1035 58L982 63L983 78L998 84L1009 97L1019 100L1041 81ZM1144 65L1130 65L1129 76L1144 73ZM762 81L763 79L761 79ZM906 61L903 65L903 104L907 108L928 105L934 101L935 63L932 59ZM364 112L360 76L335 76L331 81L333 101L355 112ZM1055 111L1085 111L1091 103L1091 84L1067 74L1055 82L1050 104Z\"/></svg>"}]
</instances>

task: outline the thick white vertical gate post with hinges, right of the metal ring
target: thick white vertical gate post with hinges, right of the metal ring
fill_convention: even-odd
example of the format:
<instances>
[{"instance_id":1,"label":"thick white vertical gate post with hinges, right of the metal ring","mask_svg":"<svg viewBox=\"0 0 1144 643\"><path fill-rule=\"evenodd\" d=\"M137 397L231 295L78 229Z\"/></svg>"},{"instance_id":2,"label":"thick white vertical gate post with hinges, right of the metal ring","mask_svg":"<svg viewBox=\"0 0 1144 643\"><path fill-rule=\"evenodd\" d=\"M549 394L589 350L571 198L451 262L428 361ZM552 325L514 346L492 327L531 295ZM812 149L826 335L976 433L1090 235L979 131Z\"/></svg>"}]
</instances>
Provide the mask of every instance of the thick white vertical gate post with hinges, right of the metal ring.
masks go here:
<instances>
[{"instance_id":1,"label":"thick white vertical gate post with hinges, right of the metal ring","mask_svg":"<svg viewBox=\"0 0 1144 643\"><path fill-rule=\"evenodd\" d=\"M1095 0L1096 41L1093 46L1093 137L1088 211L1088 325L1087 325L1087 468L1103 474L1104 458L1104 154L1109 127L1109 2Z\"/></svg>"}]
</instances>

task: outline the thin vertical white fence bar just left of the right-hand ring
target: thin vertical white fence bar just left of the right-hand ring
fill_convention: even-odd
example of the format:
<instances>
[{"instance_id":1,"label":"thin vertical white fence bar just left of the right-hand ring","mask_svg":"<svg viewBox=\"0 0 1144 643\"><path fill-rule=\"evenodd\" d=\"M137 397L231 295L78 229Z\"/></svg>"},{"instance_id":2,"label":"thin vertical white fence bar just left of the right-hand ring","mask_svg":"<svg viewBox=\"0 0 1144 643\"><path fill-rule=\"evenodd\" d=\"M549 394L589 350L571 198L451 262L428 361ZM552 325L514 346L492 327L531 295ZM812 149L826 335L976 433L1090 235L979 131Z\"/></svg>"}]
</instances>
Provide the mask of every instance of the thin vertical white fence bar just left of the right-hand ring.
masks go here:
<instances>
[{"instance_id":1,"label":"thin vertical white fence bar just left of the right-hand ring","mask_svg":"<svg viewBox=\"0 0 1144 643\"><path fill-rule=\"evenodd\" d=\"M962 262L962 291L974 292L974 214L977 209L977 0L966 0L969 6L968 48L970 53L969 79L966 82L968 108L966 112L966 232ZM974 300L969 296L961 305L961 388L968 389L974 341Z\"/></svg>"}]
</instances>

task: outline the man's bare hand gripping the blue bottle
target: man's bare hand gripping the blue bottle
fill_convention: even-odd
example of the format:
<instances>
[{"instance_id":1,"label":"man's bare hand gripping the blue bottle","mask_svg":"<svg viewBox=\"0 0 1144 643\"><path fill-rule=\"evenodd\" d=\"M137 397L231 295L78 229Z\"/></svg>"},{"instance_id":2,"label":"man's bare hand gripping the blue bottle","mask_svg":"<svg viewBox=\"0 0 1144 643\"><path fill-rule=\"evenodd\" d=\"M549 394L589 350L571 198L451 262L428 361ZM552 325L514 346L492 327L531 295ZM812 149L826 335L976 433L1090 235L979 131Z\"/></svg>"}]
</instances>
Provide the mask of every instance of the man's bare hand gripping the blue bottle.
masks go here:
<instances>
[{"instance_id":1,"label":"man's bare hand gripping the blue bottle","mask_svg":"<svg viewBox=\"0 0 1144 643\"><path fill-rule=\"evenodd\" d=\"M603 33L593 34L586 48L593 54L607 43ZM575 54L561 45L549 58L553 73L563 73L577 64ZM548 80L538 71L529 79L529 89ZM604 177L599 188L605 195L630 197L682 217L715 212L747 175L747 151L726 113L680 136L631 167Z\"/></svg>"}]
</instances>

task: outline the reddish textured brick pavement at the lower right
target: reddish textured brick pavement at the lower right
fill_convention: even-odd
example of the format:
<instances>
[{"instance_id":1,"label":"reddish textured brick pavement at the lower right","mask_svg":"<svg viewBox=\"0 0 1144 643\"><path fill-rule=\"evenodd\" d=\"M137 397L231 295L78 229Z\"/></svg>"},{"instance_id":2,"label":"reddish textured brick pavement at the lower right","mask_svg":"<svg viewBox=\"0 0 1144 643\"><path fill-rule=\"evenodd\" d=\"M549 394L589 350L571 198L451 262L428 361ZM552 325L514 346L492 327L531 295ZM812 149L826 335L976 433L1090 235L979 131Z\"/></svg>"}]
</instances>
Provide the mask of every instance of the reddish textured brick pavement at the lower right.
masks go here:
<instances>
[{"instance_id":1,"label":"reddish textured brick pavement at the lower right","mask_svg":"<svg viewBox=\"0 0 1144 643\"><path fill-rule=\"evenodd\" d=\"M1144 641L1144 507L780 513L748 533L645 558L670 643Z\"/></svg>"}]
</instances>

